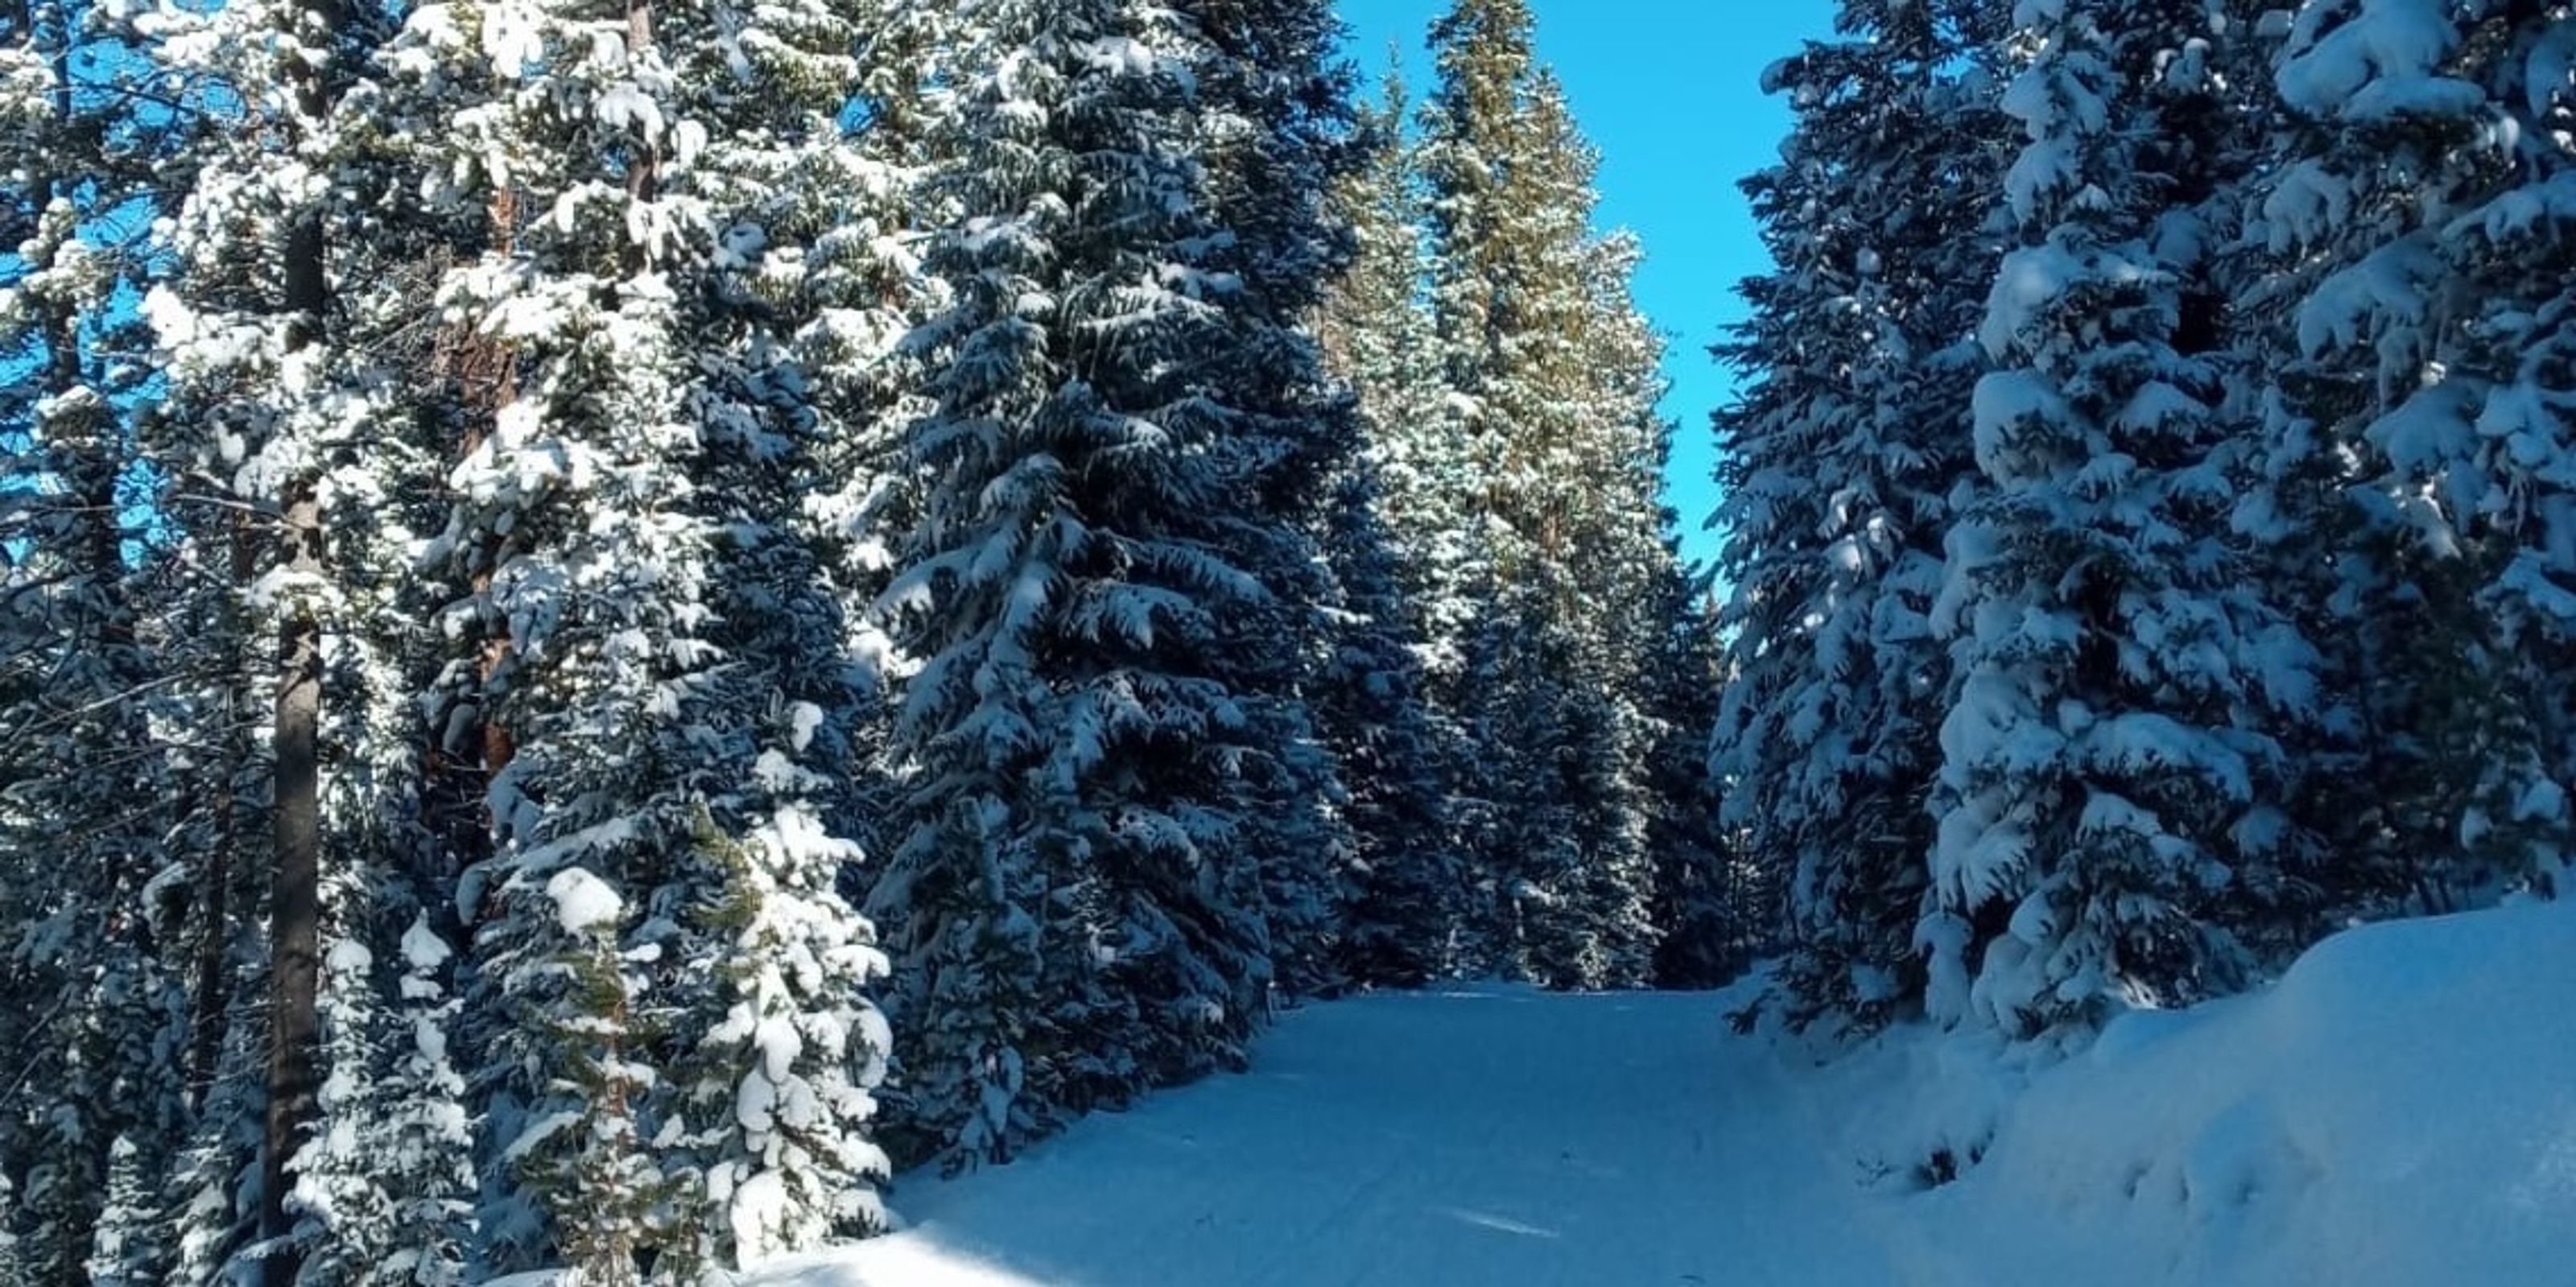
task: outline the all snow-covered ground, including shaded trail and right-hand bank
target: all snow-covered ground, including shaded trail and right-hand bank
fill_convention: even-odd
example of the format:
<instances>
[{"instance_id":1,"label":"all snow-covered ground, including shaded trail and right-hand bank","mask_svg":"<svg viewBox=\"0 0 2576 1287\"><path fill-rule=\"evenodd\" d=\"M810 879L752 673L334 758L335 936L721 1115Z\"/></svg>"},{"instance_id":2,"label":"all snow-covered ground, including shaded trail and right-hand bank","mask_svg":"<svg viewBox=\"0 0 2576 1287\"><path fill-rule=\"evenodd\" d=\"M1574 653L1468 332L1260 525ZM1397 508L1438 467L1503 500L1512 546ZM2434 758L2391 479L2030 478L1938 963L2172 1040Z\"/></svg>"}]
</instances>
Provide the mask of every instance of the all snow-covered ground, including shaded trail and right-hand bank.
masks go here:
<instances>
[{"instance_id":1,"label":"all snow-covered ground, including shaded trail and right-hand bank","mask_svg":"<svg viewBox=\"0 0 2576 1287\"><path fill-rule=\"evenodd\" d=\"M1914 1030L1816 1066L1723 1006L1314 1006L1252 1073L912 1176L904 1233L757 1282L2576 1282L2571 906L2342 934L2056 1063Z\"/></svg>"}]
</instances>

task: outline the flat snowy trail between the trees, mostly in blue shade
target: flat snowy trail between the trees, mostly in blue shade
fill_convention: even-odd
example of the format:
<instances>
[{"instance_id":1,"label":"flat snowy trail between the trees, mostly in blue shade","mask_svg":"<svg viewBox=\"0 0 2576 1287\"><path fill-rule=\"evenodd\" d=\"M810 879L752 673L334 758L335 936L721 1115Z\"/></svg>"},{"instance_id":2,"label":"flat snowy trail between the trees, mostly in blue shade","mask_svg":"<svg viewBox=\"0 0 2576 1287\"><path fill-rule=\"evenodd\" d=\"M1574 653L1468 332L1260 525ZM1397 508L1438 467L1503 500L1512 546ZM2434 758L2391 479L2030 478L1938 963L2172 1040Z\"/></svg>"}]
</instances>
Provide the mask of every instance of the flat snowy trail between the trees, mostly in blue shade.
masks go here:
<instances>
[{"instance_id":1,"label":"flat snowy trail between the trees, mostly in blue shade","mask_svg":"<svg viewBox=\"0 0 2576 1287\"><path fill-rule=\"evenodd\" d=\"M1255 1071L894 1194L773 1287L1896 1282L1850 1163L1716 996L1517 988L1291 1014Z\"/></svg>"}]
</instances>

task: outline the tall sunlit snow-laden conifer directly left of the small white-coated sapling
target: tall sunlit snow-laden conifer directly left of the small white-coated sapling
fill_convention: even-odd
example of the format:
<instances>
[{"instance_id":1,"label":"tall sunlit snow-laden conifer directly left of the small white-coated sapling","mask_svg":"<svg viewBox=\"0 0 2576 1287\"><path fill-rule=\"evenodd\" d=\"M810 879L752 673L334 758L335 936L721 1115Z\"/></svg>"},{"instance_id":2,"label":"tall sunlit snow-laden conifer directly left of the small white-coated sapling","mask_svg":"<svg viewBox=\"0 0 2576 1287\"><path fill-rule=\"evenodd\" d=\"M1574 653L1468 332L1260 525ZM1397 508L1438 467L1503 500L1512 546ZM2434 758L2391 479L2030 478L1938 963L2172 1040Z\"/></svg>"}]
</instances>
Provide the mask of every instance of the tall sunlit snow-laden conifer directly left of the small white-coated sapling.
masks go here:
<instances>
[{"instance_id":1,"label":"tall sunlit snow-laden conifer directly left of the small white-coated sapling","mask_svg":"<svg viewBox=\"0 0 2576 1287\"><path fill-rule=\"evenodd\" d=\"M626 1282L639 1254L698 1246L647 1215L685 1181L654 1042L698 947L690 821L742 780L708 728L716 530L688 340L711 129L685 93L708 85L675 62L714 57L716 31L690 18L711 23L641 0L440 5L407 28L430 95L415 172L453 208L523 211L440 288L507 376L425 559L453 602L438 723L489 728L492 852L456 885L489 1122L479 1272Z\"/></svg>"}]
</instances>

